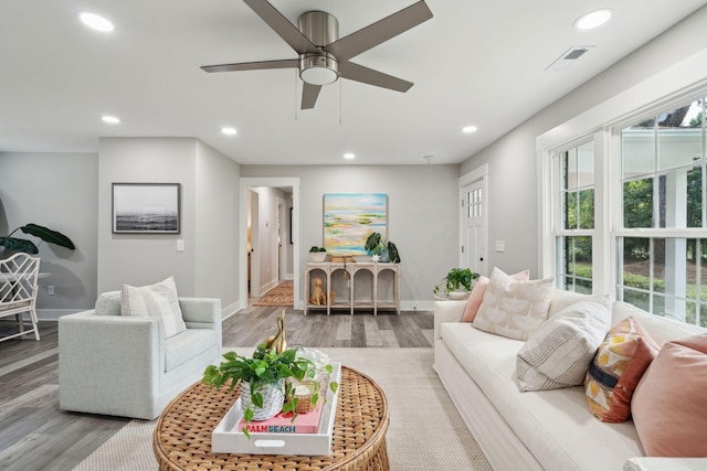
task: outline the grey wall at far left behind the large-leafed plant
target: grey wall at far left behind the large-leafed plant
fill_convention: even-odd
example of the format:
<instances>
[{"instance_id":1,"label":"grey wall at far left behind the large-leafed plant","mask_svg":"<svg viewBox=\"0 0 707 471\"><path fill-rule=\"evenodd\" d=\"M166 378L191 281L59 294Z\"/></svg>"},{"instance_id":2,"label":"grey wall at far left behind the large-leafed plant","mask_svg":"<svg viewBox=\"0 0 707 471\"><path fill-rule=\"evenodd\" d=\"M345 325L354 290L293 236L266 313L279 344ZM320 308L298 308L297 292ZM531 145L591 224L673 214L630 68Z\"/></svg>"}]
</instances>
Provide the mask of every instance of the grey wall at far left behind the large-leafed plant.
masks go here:
<instances>
[{"instance_id":1,"label":"grey wall at far left behind the large-leafed plant","mask_svg":"<svg viewBox=\"0 0 707 471\"><path fill-rule=\"evenodd\" d=\"M38 315L56 319L96 301L98 156L95 153L0 153L0 235L35 223L67 235L75 250L38 245L41 271ZM0 256L1 258L1 256ZM54 296L48 295L48 286Z\"/></svg>"}]
</instances>

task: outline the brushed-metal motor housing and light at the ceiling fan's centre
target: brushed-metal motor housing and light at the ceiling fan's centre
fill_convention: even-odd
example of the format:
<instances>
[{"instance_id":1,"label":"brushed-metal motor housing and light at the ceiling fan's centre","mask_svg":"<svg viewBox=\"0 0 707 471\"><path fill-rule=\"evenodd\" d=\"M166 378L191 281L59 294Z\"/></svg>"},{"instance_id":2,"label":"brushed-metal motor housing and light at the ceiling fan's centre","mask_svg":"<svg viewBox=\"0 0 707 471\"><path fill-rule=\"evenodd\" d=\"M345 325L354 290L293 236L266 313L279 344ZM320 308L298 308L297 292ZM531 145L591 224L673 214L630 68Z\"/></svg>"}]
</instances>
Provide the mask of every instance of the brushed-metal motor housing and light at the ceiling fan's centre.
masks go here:
<instances>
[{"instance_id":1,"label":"brushed-metal motor housing and light at the ceiling fan's centre","mask_svg":"<svg viewBox=\"0 0 707 471\"><path fill-rule=\"evenodd\" d=\"M308 11L299 17L302 34L317 47L324 47L339 39L339 22L324 11ZM337 58L321 51L320 54L299 55L299 77L312 85L327 85L339 78Z\"/></svg>"}]
</instances>

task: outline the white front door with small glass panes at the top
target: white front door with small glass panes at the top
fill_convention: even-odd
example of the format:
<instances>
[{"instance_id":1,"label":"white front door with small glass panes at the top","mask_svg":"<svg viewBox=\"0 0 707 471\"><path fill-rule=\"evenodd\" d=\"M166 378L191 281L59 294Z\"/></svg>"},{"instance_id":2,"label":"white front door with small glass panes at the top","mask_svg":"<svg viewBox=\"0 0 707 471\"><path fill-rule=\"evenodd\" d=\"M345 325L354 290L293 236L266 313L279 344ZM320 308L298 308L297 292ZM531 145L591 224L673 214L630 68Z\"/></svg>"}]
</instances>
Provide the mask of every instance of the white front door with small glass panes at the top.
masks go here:
<instances>
[{"instance_id":1,"label":"white front door with small glass panes at the top","mask_svg":"<svg viewBox=\"0 0 707 471\"><path fill-rule=\"evenodd\" d=\"M460 178L460 266L487 275L488 165Z\"/></svg>"}]
</instances>

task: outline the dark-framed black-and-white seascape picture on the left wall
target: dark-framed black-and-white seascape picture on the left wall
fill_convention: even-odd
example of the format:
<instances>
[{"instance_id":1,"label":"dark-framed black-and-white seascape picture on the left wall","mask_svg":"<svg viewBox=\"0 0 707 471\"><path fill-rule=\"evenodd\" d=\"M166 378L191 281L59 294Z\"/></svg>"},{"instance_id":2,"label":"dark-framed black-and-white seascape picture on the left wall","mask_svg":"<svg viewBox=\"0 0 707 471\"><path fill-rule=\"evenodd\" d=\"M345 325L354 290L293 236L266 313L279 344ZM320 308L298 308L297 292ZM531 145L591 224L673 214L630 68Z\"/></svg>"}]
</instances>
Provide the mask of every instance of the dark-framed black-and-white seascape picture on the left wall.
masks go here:
<instances>
[{"instance_id":1,"label":"dark-framed black-and-white seascape picture on the left wall","mask_svg":"<svg viewBox=\"0 0 707 471\"><path fill-rule=\"evenodd\" d=\"M181 184L113 183L113 234L179 234Z\"/></svg>"}]
</instances>

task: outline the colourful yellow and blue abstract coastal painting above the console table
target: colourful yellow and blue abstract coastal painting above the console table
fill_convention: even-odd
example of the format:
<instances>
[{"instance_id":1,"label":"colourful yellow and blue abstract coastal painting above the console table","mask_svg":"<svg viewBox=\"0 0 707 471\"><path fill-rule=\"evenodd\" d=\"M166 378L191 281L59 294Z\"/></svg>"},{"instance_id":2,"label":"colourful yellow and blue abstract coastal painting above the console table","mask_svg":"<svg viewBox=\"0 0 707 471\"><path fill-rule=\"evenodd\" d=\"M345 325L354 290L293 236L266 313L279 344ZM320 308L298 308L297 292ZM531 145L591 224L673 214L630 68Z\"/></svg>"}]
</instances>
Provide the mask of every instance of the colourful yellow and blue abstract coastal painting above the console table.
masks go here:
<instances>
[{"instance_id":1,"label":"colourful yellow and blue abstract coastal painting above the console table","mask_svg":"<svg viewBox=\"0 0 707 471\"><path fill-rule=\"evenodd\" d=\"M370 233L388 237L388 195L324 195L324 247L334 255L365 255Z\"/></svg>"}]
</instances>

